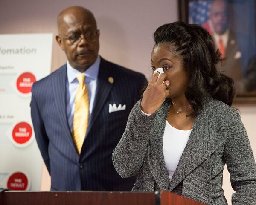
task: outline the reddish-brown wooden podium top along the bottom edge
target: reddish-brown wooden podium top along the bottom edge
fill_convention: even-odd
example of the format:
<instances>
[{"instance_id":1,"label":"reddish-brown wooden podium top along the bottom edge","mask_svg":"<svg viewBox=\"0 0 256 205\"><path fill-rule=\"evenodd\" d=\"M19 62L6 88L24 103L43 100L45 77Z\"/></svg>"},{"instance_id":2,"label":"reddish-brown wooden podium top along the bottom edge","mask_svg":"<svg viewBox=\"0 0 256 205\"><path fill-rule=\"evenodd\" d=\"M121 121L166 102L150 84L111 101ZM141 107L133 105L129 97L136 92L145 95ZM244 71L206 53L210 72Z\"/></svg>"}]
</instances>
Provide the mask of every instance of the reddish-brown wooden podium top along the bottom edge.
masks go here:
<instances>
[{"instance_id":1,"label":"reddish-brown wooden podium top along the bottom edge","mask_svg":"<svg viewBox=\"0 0 256 205\"><path fill-rule=\"evenodd\" d=\"M192 199L157 191L96 192L96 191L4 191L0 205L204 205Z\"/></svg>"}]
</instances>

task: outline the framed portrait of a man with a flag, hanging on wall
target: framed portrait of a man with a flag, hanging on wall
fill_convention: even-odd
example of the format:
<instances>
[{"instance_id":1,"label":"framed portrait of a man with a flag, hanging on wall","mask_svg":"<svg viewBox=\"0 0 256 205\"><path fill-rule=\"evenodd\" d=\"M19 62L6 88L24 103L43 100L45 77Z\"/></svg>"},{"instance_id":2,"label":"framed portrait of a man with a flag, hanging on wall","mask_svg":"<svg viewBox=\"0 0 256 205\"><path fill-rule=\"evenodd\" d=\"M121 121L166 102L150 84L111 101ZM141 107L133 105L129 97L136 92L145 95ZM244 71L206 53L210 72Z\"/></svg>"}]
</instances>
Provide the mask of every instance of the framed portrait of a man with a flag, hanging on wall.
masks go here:
<instances>
[{"instance_id":1,"label":"framed portrait of a man with a flag, hanging on wall","mask_svg":"<svg viewBox=\"0 0 256 205\"><path fill-rule=\"evenodd\" d=\"M200 24L223 60L217 65L236 87L234 103L256 104L256 0L179 0L179 20Z\"/></svg>"}]
</instances>

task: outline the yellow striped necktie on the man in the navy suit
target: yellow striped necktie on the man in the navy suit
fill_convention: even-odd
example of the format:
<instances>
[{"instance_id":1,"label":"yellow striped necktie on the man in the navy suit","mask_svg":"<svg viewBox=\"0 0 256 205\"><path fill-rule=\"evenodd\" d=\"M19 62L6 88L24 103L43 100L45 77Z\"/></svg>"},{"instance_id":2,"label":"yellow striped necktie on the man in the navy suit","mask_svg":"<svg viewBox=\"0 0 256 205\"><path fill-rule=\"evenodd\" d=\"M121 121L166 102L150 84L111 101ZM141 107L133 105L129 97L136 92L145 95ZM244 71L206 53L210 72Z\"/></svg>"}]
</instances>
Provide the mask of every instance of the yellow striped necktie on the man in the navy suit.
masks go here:
<instances>
[{"instance_id":1,"label":"yellow striped necktie on the man in the navy suit","mask_svg":"<svg viewBox=\"0 0 256 205\"><path fill-rule=\"evenodd\" d=\"M86 84L84 83L85 76L78 75L79 88L76 91L75 112L73 118L73 138L76 144L78 153L81 153L81 148L84 143L86 130L89 120L89 95Z\"/></svg>"}]
</instances>

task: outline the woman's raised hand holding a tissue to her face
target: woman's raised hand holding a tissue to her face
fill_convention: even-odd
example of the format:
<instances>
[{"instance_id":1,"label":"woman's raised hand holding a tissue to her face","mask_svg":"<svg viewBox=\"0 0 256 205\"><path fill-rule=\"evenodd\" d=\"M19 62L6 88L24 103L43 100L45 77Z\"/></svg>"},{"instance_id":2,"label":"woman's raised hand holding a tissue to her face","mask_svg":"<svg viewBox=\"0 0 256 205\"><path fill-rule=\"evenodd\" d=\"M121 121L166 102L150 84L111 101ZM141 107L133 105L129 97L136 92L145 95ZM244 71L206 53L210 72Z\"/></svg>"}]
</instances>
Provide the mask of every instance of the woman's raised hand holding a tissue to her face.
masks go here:
<instances>
[{"instance_id":1,"label":"woman's raised hand holding a tissue to her face","mask_svg":"<svg viewBox=\"0 0 256 205\"><path fill-rule=\"evenodd\" d=\"M159 77L158 77L159 76ZM166 74L159 74L156 72L152 80L149 82L147 89L143 93L141 100L141 110L144 113L152 114L157 111L166 97L169 95L169 90L167 87L170 84L170 81L166 80Z\"/></svg>"}]
</instances>

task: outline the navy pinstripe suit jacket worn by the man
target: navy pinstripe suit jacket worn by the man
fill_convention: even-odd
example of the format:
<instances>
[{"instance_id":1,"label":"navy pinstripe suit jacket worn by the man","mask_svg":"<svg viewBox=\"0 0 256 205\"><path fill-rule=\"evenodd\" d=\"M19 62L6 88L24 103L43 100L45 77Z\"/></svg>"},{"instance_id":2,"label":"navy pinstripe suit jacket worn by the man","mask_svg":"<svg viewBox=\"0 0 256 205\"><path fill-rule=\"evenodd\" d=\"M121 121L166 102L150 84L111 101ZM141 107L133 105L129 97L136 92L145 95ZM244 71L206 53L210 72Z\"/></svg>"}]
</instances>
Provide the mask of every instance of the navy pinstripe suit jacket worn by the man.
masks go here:
<instances>
[{"instance_id":1,"label":"navy pinstripe suit jacket worn by the man","mask_svg":"<svg viewBox=\"0 0 256 205\"><path fill-rule=\"evenodd\" d=\"M114 83L108 77L114 78ZM77 153L66 114L67 66L32 86L31 115L35 138L51 175L51 190L131 191L135 178L122 179L112 152L140 98L144 75L101 58L96 98L87 134ZM126 105L109 113L109 104Z\"/></svg>"}]
</instances>

